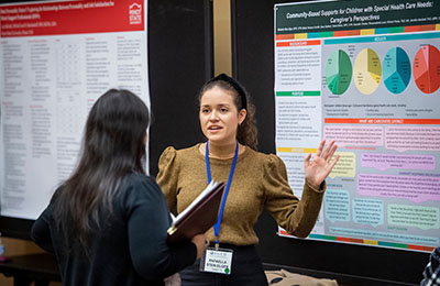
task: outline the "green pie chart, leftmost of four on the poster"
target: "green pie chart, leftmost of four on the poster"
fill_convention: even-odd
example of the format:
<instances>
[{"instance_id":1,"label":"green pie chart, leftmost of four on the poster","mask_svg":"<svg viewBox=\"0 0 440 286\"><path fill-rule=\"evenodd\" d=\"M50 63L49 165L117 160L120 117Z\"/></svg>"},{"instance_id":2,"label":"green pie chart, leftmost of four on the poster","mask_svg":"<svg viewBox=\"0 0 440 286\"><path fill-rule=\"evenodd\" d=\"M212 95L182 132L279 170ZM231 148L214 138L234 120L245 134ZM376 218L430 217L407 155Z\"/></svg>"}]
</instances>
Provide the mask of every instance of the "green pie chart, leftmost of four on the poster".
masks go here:
<instances>
[{"instance_id":1,"label":"green pie chart, leftmost of four on the poster","mask_svg":"<svg viewBox=\"0 0 440 286\"><path fill-rule=\"evenodd\" d=\"M326 64L326 81L333 95L342 95L350 86L352 66L350 57L342 50L333 51Z\"/></svg>"}]
</instances>

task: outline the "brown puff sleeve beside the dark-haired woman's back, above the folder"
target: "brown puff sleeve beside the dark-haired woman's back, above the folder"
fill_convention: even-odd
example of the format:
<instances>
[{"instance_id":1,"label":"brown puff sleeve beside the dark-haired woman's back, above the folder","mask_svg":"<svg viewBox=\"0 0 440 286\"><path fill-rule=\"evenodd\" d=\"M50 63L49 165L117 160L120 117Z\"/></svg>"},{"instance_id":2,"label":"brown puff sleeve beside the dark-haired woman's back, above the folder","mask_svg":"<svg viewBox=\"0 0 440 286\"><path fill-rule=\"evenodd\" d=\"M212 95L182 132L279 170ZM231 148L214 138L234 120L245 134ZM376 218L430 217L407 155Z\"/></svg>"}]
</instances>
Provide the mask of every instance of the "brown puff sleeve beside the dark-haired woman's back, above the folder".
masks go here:
<instances>
[{"instance_id":1,"label":"brown puff sleeve beside the dark-haired woman's back, above the folder","mask_svg":"<svg viewBox=\"0 0 440 286\"><path fill-rule=\"evenodd\" d=\"M164 193L170 210L174 210L177 205L178 163L176 155L177 151L174 147L165 148L158 160L158 174L156 176L157 185Z\"/></svg>"}]
</instances>

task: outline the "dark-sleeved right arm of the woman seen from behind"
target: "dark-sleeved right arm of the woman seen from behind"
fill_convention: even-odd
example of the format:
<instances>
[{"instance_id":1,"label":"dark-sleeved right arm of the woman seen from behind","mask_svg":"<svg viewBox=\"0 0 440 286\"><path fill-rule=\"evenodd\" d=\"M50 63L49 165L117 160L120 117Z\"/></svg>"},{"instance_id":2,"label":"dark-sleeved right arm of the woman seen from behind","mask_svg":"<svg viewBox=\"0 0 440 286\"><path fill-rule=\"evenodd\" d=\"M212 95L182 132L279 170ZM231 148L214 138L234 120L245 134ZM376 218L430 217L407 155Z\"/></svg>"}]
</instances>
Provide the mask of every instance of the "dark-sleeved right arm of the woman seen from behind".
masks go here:
<instances>
[{"instance_id":1,"label":"dark-sleeved right arm of the woman seen from behind","mask_svg":"<svg viewBox=\"0 0 440 286\"><path fill-rule=\"evenodd\" d=\"M130 253L134 268L145 278L169 276L195 262L197 248L187 241L166 243L169 211L158 186L142 180L125 199Z\"/></svg>"}]
</instances>

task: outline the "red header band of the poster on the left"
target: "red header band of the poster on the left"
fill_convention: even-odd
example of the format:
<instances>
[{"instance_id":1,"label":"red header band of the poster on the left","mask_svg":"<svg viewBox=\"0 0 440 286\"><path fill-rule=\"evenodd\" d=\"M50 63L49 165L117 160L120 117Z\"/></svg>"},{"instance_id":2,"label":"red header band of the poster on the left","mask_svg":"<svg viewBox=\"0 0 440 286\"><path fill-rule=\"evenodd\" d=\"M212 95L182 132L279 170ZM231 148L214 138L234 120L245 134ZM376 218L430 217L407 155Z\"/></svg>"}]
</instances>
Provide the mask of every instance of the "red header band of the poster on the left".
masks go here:
<instances>
[{"instance_id":1,"label":"red header band of the poster on the left","mask_svg":"<svg viewBox=\"0 0 440 286\"><path fill-rule=\"evenodd\" d=\"M144 9L143 1L0 6L0 33L1 37L16 37L144 31Z\"/></svg>"}]
</instances>

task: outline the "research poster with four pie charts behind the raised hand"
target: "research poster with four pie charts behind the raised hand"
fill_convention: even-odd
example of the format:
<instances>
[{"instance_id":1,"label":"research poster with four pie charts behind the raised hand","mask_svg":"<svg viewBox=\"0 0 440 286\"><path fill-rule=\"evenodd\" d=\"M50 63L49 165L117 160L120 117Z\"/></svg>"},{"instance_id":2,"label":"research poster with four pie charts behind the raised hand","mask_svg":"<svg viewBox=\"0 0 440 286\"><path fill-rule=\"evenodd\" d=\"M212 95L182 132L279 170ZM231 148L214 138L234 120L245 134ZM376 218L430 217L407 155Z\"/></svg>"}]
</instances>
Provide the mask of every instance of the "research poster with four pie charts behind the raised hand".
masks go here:
<instances>
[{"instance_id":1,"label":"research poster with four pie charts behind the raised hand","mask_svg":"<svg viewBox=\"0 0 440 286\"><path fill-rule=\"evenodd\" d=\"M275 6L276 151L298 197L304 157L339 146L310 239L440 245L439 16L433 0Z\"/></svg>"}]
</instances>

